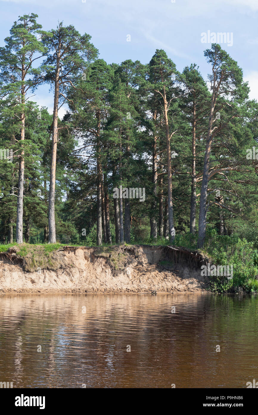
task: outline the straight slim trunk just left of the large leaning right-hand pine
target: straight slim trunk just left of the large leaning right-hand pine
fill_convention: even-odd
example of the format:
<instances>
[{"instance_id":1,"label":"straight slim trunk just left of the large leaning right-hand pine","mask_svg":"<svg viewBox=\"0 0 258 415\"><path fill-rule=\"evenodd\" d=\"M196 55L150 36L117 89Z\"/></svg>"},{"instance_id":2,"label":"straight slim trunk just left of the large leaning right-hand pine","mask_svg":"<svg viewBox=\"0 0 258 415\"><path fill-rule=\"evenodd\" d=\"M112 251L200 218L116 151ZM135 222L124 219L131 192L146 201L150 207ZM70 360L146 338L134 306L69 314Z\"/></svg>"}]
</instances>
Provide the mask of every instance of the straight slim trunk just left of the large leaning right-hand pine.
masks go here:
<instances>
[{"instance_id":1,"label":"straight slim trunk just left of the large leaning right-hand pine","mask_svg":"<svg viewBox=\"0 0 258 415\"><path fill-rule=\"evenodd\" d=\"M190 202L190 233L195 234L196 216L196 172L195 172L195 129L196 129L196 109L195 93L193 97L193 127L192 127L192 183L191 183L191 202Z\"/></svg>"}]
</instances>

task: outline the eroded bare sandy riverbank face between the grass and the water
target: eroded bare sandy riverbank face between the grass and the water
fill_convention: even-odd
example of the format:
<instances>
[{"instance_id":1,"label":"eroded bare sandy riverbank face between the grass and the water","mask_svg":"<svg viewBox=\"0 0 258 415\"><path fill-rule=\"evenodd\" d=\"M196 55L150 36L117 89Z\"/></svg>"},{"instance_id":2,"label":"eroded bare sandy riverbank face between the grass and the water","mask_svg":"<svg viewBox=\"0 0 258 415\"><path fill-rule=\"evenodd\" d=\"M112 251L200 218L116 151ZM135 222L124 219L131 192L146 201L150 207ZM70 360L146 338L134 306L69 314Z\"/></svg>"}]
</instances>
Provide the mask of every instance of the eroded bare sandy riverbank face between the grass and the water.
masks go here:
<instances>
[{"instance_id":1,"label":"eroded bare sandy riverbank face between the grass and the water","mask_svg":"<svg viewBox=\"0 0 258 415\"><path fill-rule=\"evenodd\" d=\"M207 283L200 263L178 263L158 246L64 247L47 263L19 257L17 247L0 255L0 293L198 292Z\"/></svg>"}]
</instances>

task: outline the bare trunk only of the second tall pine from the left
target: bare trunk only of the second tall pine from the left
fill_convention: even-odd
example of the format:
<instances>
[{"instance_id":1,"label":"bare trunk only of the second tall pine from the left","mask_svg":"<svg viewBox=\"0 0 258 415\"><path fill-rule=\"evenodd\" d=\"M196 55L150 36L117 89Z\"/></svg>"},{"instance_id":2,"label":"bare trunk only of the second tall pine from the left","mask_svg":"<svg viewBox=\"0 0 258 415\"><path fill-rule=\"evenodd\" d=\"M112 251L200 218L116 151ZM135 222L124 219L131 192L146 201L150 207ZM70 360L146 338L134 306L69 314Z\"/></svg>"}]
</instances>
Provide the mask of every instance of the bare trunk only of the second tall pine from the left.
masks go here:
<instances>
[{"instance_id":1,"label":"bare trunk only of the second tall pine from the left","mask_svg":"<svg viewBox=\"0 0 258 415\"><path fill-rule=\"evenodd\" d=\"M53 128L52 128L52 151L51 151L51 168L49 181L49 201L48 201L48 243L56 242L55 235L55 170L56 170L56 152L58 141L58 102L59 102L59 73L60 73L60 44L57 52L56 71L55 71L55 98L53 111Z\"/></svg>"}]
</instances>

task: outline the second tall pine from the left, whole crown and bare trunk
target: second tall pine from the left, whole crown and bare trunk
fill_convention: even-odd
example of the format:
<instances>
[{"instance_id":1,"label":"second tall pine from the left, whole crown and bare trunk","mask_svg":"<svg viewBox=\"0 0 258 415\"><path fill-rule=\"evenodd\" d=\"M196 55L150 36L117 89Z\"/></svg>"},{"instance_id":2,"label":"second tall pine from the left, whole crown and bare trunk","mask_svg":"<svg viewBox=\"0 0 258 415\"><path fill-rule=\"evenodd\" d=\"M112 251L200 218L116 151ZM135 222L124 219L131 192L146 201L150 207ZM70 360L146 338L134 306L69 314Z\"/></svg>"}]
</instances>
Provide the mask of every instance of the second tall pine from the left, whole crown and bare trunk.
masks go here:
<instances>
[{"instance_id":1,"label":"second tall pine from the left, whole crown and bare trunk","mask_svg":"<svg viewBox=\"0 0 258 415\"><path fill-rule=\"evenodd\" d=\"M84 59L91 61L96 57L97 50L89 42L88 34L80 35L75 28L63 26L59 23L57 29L43 37L43 44L48 49L48 57L43 62L45 79L54 89L54 109L52 124L52 151L48 203L49 243L56 242L55 235L55 168L58 143L58 109L59 105L68 102L68 89L72 86L74 78L84 66Z\"/></svg>"}]
</instances>

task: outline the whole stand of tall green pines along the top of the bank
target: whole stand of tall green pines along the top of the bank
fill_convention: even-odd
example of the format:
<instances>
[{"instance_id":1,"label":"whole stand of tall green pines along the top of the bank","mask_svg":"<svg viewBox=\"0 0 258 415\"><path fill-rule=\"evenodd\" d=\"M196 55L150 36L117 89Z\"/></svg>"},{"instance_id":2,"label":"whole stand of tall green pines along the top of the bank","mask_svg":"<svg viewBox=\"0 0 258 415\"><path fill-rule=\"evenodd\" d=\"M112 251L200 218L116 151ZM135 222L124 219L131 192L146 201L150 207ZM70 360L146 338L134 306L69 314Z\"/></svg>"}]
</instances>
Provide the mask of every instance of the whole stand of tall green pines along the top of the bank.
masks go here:
<instances>
[{"instance_id":1,"label":"whole stand of tall green pines along the top of the bank","mask_svg":"<svg viewBox=\"0 0 258 415\"><path fill-rule=\"evenodd\" d=\"M0 48L0 242L212 247L220 263L239 244L255 266L258 104L234 56L211 44L205 78L162 49L110 64L37 17ZM44 84L53 114L33 100Z\"/></svg>"}]
</instances>

